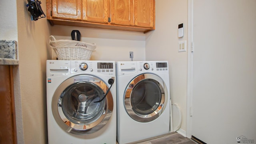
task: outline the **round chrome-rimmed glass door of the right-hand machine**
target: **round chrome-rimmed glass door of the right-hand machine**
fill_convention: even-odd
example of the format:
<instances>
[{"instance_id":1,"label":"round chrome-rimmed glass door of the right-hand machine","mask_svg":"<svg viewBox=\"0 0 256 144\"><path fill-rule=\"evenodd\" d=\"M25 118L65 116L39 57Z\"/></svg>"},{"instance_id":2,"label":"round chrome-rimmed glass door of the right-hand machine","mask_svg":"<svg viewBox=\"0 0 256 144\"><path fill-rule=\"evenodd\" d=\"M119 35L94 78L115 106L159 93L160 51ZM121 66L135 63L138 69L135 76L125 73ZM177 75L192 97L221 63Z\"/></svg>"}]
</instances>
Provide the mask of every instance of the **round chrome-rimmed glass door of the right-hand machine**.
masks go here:
<instances>
[{"instance_id":1,"label":"round chrome-rimmed glass door of the right-hand machine","mask_svg":"<svg viewBox=\"0 0 256 144\"><path fill-rule=\"evenodd\" d=\"M124 93L126 111L138 122L150 122L158 118L164 111L167 101L166 85L155 74L136 76Z\"/></svg>"}]
</instances>

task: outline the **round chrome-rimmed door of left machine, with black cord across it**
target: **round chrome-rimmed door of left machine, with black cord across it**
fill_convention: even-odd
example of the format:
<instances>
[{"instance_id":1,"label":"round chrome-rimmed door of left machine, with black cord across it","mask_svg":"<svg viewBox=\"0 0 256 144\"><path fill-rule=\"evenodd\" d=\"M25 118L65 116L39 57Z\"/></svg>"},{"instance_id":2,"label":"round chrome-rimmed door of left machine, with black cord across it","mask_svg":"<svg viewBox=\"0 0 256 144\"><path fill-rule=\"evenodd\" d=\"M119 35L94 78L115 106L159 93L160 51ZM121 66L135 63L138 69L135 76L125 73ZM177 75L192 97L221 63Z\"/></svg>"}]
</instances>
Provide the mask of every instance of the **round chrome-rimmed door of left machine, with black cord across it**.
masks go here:
<instances>
[{"instance_id":1,"label":"round chrome-rimmed door of left machine, with black cord across it","mask_svg":"<svg viewBox=\"0 0 256 144\"><path fill-rule=\"evenodd\" d=\"M113 98L108 86L95 76L68 78L57 88L52 99L55 120L66 131L90 134L102 128L110 119Z\"/></svg>"}]
</instances>

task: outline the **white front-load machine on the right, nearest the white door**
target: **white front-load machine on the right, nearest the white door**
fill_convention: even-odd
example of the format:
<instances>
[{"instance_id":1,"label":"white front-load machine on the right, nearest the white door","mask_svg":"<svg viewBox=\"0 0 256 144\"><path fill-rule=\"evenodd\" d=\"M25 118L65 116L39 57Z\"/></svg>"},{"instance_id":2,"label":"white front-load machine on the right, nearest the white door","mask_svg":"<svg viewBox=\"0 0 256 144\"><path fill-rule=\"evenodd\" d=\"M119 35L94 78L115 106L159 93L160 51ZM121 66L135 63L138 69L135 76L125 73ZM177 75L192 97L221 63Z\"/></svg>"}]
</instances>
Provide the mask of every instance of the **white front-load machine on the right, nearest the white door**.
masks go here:
<instances>
[{"instance_id":1,"label":"white front-load machine on the right, nearest the white door","mask_svg":"<svg viewBox=\"0 0 256 144\"><path fill-rule=\"evenodd\" d=\"M126 144L170 129L167 61L116 62L117 140Z\"/></svg>"}]
</instances>

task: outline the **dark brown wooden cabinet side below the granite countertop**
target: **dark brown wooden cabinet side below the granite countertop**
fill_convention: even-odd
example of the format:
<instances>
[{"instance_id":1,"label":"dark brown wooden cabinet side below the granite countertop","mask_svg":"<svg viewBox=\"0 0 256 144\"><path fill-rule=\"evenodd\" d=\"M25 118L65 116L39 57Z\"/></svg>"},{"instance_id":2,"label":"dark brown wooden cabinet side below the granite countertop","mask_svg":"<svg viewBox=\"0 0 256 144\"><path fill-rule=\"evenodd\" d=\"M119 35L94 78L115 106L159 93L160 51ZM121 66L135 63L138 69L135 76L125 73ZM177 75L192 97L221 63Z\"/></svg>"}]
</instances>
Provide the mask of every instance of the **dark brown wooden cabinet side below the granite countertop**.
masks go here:
<instances>
[{"instance_id":1,"label":"dark brown wooden cabinet side below the granite countertop","mask_svg":"<svg viewBox=\"0 0 256 144\"><path fill-rule=\"evenodd\" d=\"M17 144L12 66L0 65L0 144Z\"/></svg>"}]
</instances>

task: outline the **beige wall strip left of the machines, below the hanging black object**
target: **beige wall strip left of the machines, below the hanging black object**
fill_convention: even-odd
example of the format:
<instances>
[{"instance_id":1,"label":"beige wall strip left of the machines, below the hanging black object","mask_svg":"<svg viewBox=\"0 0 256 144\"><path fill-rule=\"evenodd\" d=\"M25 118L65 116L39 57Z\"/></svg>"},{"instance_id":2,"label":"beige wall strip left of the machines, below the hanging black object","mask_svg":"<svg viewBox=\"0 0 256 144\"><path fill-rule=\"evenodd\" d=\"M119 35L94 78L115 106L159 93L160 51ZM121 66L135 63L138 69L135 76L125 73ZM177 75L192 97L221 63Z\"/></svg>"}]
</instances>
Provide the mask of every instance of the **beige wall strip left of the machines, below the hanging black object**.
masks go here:
<instances>
[{"instance_id":1,"label":"beige wall strip left of the machines, below the hanging black object","mask_svg":"<svg viewBox=\"0 0 256 144\"><path fill-rule=\"evenodd\" d=\"M41 0L46 12L45 0ZM32 21L27 0L17 0L20 97L25 144L45 144L46 60L50 30L46 18ZM19 127L19 125L17 125ZM19 140L19 138L18 138ZM19 142L21 143L21 142Z\"/></svg>"}]
</instances>

